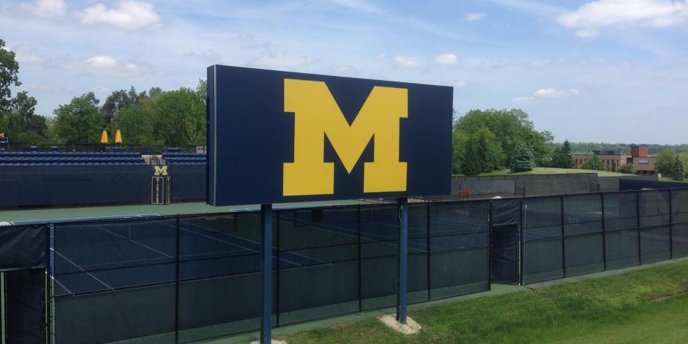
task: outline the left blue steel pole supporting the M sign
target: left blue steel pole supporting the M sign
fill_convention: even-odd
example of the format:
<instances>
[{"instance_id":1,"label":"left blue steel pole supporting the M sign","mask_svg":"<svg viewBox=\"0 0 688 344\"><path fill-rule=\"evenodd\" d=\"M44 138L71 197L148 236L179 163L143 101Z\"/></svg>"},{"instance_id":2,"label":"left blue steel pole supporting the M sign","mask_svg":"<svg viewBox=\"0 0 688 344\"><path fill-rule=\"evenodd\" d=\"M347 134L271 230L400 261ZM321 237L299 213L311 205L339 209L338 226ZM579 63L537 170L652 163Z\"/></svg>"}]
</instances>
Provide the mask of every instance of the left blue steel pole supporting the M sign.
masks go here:
<instances>
[{"instance_id":1,"label":"left blue steel pole supporting the M sign","mask_svg":"<svg viewBox=\"0 0 688 344\"><path fill-rule=\"evenodd\" d=\"M262 229L262 314L260 317L260 343L272 342L272 204L260 205Z\"/></svg>"}]
</instances>

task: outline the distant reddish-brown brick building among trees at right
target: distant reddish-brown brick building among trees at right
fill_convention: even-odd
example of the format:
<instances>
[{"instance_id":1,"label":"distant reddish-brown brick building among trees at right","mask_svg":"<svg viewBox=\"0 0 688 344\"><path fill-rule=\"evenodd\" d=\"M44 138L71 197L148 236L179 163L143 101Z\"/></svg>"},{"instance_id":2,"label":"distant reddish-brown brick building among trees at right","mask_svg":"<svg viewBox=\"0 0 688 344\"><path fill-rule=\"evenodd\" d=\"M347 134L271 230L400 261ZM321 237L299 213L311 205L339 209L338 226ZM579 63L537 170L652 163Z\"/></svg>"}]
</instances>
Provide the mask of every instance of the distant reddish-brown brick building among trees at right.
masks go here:
<instances>
[{"instance_id":1,"label":"distant reddish-brown brick building among trees at right","mask_svg":"<svg viewBox=\"0 0 688 344\"><path fill-rule=\"evenodd\" d=\"M648 155L648 147L643 145L634 145L631 147L631 155L621 154L618 150L593 150L593 154L577 154L574 156L576 160L576 168L583 165L585 160L591 159L597 155L606 166L607 171L616 171L618 167L626 164L633 164L636 167L636 174L655 174L655 157Z\"/></svg>"}]
</instances>

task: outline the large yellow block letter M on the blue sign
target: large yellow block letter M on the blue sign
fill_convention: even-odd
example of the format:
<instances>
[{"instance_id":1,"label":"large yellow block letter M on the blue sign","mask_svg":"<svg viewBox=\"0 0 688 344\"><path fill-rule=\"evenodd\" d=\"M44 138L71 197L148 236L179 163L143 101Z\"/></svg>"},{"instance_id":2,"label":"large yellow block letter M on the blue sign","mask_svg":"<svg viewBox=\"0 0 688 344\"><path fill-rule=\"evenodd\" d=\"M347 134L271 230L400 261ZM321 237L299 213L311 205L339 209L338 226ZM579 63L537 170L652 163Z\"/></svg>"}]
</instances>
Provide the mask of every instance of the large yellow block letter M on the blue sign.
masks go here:
<instances>
[{"instance_id":1,"label":"large yellow block letter M on the blue sign","mask_svg":"<svg viewBox=\"0 0 688 344\"><path fill-rule=\"evenodd\" d=\"M294 162L284 163L284 196L334 194L334 163L323 161L325 135L348 173L374 138L363 192L406 191L399 118L409 116L407 89L373 87L349 126L324 82L284 79L284 111L294 113Z\"/></svg>"}]
</instances>

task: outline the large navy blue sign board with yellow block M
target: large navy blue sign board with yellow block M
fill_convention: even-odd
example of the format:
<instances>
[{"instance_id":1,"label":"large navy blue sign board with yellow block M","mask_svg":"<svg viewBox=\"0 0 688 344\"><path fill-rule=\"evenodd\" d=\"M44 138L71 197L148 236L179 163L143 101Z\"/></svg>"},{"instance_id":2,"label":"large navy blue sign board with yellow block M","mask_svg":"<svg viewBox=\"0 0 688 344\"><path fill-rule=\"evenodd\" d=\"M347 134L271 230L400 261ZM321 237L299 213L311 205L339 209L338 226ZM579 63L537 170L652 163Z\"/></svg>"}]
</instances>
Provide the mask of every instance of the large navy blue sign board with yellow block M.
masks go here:
<instances>
[{"instance_id":1,"label":"large navy blue sign board with yellow block M","mask_svg":"<svg viewBox=\"0 0 688 344\"><path fill-rule=\"evenodd\" d=\"M450 193L451 87L212 66L208 203Z\"/></svg>"}]
</instances>

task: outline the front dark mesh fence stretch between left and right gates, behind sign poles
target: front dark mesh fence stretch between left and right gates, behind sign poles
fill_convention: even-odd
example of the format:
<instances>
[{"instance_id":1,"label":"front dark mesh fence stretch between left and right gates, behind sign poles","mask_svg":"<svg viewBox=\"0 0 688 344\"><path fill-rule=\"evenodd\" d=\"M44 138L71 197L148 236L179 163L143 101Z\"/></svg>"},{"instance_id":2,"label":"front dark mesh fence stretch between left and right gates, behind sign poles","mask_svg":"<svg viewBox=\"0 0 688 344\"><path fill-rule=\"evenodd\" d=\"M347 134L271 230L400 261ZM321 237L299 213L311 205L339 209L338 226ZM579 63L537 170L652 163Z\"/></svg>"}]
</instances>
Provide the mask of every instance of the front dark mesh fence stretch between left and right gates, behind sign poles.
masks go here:
<instances>
[{"instance_id":1,"label":"front dark mesh fence stretch between left and right gates, behind sign poles","mask_svg":"<svg viewBox=\"0 0 688 344\"><path fill-rule=\"evenodd\" d=\"M409 206L409 302L489 289L489 201ZM396 304L396 204L274 211L273 325ZM260 212L56 223L57 343L260 326Z\"/></svg>"}]
</instances>

